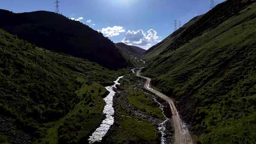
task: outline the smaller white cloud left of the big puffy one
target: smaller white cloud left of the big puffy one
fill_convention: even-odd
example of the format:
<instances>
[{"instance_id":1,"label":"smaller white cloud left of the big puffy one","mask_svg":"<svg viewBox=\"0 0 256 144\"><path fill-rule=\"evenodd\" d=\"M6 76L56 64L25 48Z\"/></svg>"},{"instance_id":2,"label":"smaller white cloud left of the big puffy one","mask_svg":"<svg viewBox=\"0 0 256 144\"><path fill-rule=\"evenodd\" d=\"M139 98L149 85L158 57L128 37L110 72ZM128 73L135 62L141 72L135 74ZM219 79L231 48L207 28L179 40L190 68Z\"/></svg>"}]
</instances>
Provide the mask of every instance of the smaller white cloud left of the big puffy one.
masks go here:
<instances>
[{"instance_id":1,"label":"smaller white cloud left of the big puffy one","mask_svg":"<svg viewBox=\"0 0 256 144\"><path fill-rule=\"evenodd\" d=\"M101 29L101 33L108 37L118 36L123 32L125 32L124 27L120 26L106 27Z\"/></svg>"}]
</instances>

